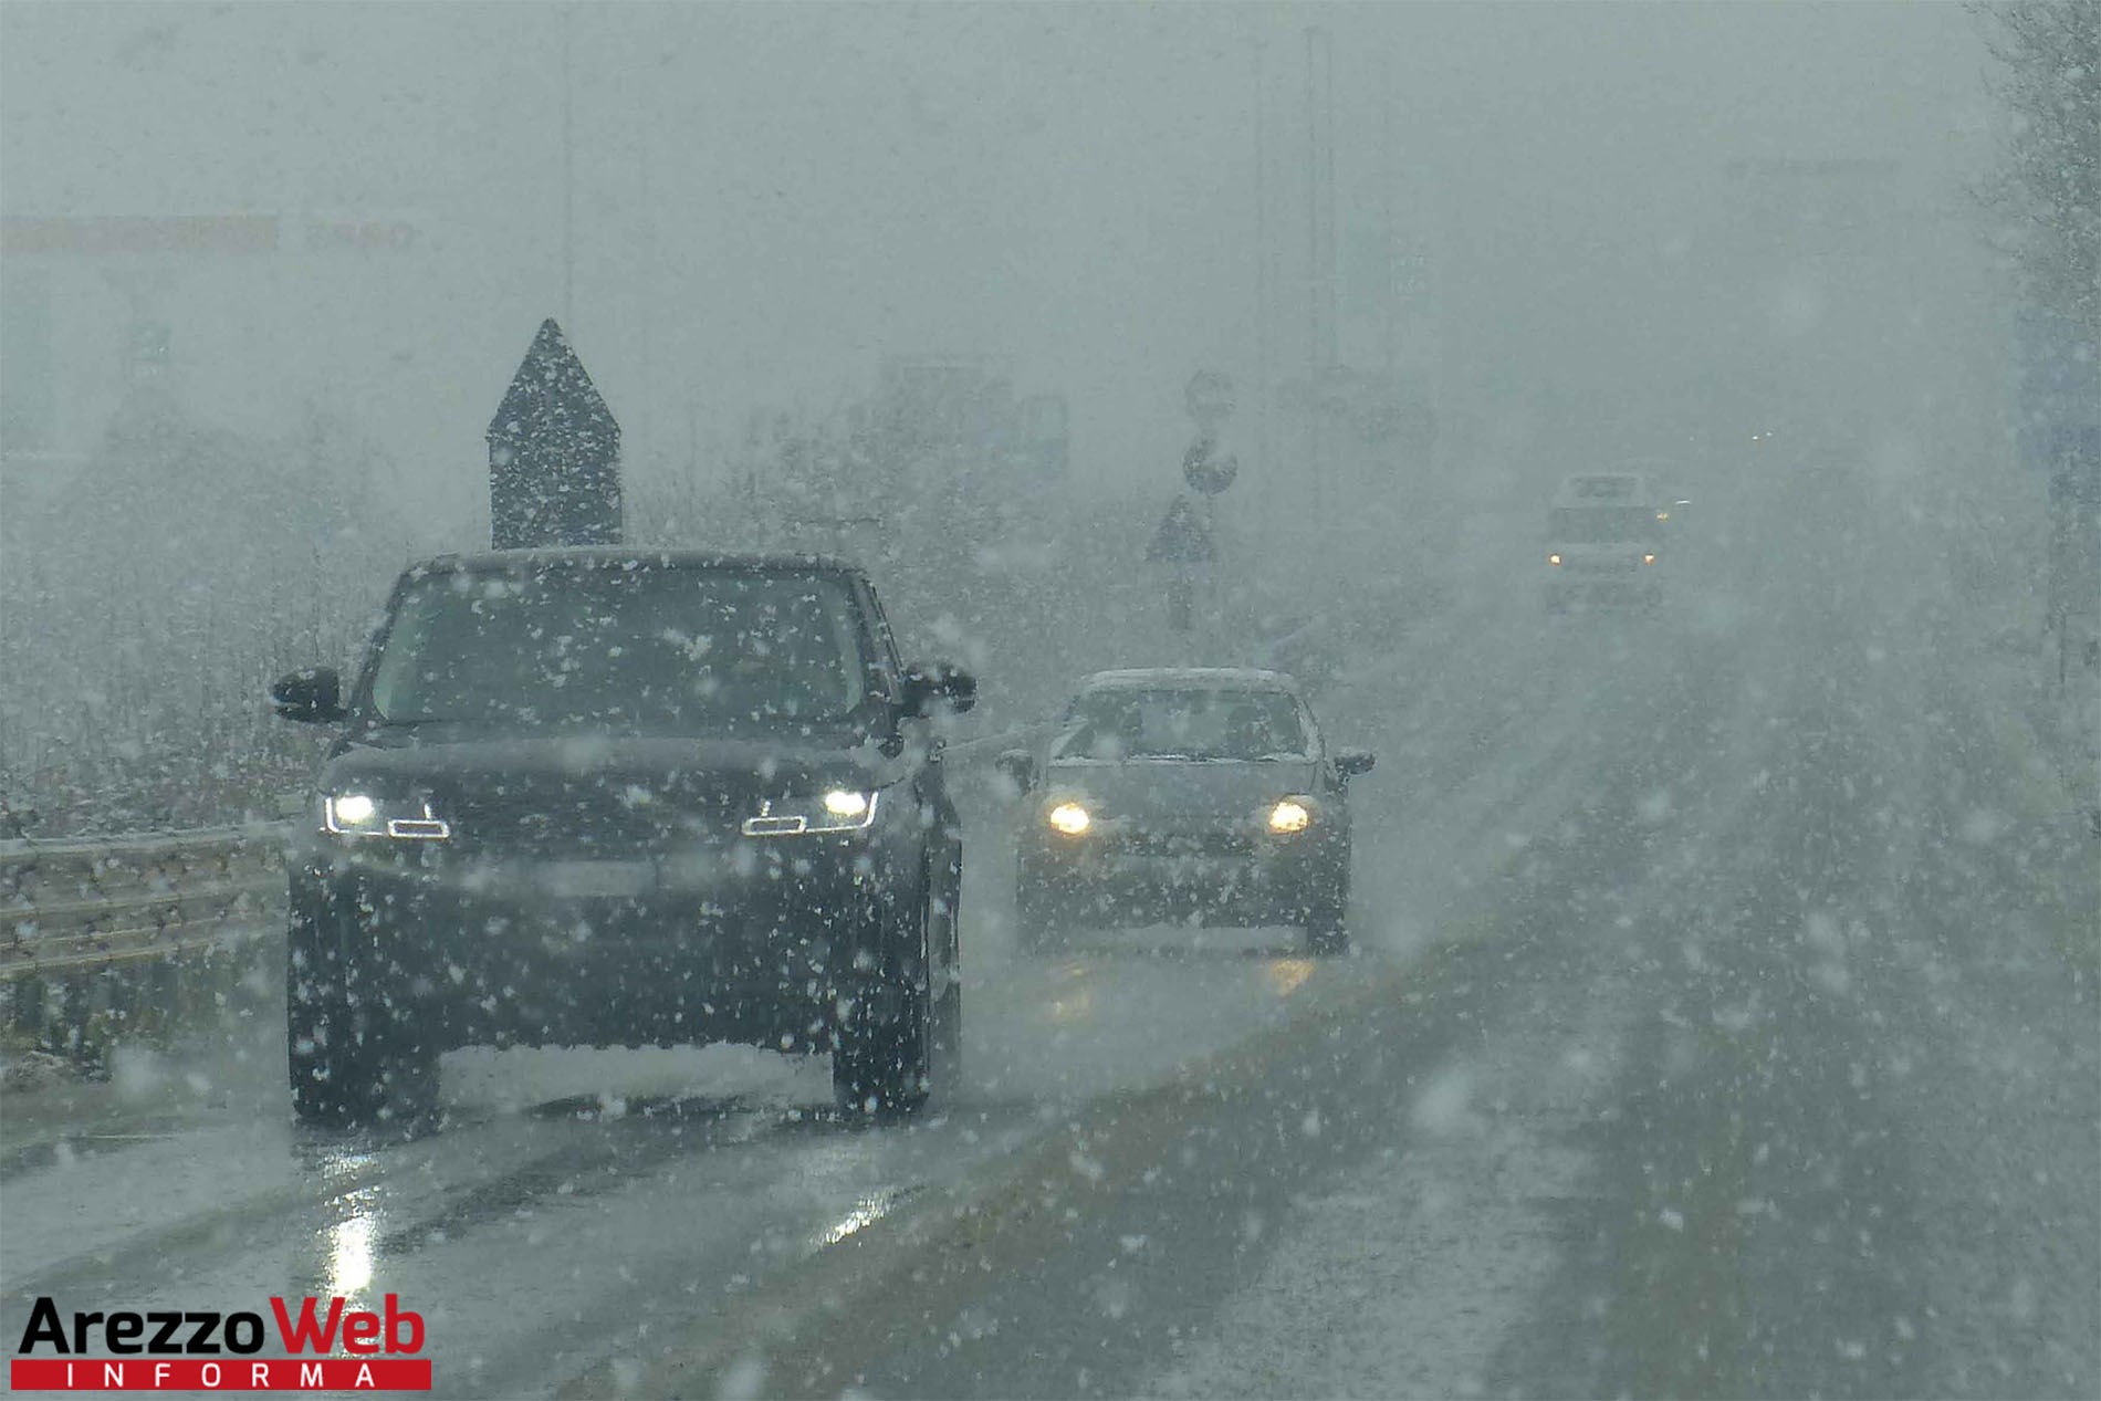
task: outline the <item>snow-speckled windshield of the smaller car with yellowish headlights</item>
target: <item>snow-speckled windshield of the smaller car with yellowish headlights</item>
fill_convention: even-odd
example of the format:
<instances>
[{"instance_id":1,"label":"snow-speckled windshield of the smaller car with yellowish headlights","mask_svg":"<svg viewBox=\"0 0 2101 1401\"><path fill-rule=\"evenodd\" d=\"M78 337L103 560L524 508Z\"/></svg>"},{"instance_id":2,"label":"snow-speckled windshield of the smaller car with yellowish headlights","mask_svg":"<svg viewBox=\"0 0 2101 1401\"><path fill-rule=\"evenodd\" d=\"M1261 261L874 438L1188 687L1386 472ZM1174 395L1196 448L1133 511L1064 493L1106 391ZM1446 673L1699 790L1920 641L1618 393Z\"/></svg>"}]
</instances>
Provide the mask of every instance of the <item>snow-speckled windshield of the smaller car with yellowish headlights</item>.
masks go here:
<instances>
[{"instance_id":1,"label":"snow-speckled windshield of the smaller car with yellowish headlights","mask_svg":"<svg viewBox=\"0 0 2101 1401\"><path fill-rule=\"evenodd\" d=\"M1307 758L1307 727L1286 691L1107 687L1065 712L1053 758Z\"/></svg>"}]
</instances>

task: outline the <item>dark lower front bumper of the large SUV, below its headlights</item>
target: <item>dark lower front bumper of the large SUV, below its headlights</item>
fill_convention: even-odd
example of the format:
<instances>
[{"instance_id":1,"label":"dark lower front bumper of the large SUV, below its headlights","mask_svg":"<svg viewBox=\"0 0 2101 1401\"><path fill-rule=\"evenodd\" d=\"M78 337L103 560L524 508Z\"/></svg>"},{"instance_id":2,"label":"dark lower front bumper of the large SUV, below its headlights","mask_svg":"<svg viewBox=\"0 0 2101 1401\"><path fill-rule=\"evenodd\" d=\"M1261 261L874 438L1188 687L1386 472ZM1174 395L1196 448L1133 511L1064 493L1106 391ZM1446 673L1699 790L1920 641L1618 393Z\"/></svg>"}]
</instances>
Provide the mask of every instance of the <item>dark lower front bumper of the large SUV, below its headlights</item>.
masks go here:
<instances>
[{"instance_id":1,"label":"dark lower front bumper of the large SUV, below its headlights","mask_svg":"<svg viewBox=\"0 0 2101 1401\"><path fill-rule=\"evenodd\" d=\"M376 998L448 1050L824 1050L838 1000L899 966L885 941L918 865L895 855L861 838L605 861L338 849L292 874L290 983Z\"/></svg>"}]
</instances>

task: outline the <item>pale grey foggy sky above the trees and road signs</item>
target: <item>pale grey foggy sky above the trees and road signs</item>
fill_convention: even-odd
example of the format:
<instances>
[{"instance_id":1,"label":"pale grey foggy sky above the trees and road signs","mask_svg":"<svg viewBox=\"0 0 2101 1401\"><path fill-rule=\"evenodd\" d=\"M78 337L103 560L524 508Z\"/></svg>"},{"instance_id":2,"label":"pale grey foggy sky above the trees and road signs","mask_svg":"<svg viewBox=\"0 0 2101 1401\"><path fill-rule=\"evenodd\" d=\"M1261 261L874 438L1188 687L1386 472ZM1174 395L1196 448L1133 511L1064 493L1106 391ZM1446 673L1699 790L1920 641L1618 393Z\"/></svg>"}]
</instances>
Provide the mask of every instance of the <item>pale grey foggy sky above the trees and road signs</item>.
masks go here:
<instances>
[{"instance_id":1,"label":"pale grey foggy sky above the trees and road signs","mask_svg":"<svg viewBox=\"0 0 2101 1401\"><path fill-rule=\"evenodd\" d=\"M565 323L637 471L754 405L838 405L885 355L975 353L1072 399L1076 473L1166 489L1189 372L1254 376L1256 44L1275 376L1307 355L1309 23L1336 42L1345 286L1391 208L1431 258L1410 336L1439 407L1565 418L1584 452L1708 353L1725 162L1895 158L1948 223L1988 141L1952 4L17 2L0 208L412 221L410 254L258 265L176 326L176 357L200 414L321 403L464 508L511 370L563 315L567 32ZM1855 311L1925 317L1918 357L1983 256L1914 214L1918 277ZM122 330L113 302L88 313ZM1380 326L1345 298L1345 359L1376 359Z\"/></svg>"}]
</instances>

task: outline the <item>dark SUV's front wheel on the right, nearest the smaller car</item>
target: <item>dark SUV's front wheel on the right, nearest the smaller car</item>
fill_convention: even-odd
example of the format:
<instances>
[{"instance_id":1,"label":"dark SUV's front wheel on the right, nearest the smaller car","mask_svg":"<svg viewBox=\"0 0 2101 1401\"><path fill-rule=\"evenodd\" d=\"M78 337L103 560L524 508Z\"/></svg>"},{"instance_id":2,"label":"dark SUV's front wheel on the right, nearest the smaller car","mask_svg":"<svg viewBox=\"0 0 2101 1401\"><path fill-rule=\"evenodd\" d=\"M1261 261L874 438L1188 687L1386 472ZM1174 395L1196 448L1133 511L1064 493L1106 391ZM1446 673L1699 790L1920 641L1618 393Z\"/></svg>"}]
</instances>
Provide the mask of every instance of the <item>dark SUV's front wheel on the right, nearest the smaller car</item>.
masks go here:
<instances>
[{"instance_id":1,"label":"dark SUV's front wheel on the right, nearest the smaller car","mask_svg":"<svg viewBox=\"0 0 2101 1401\"><path fill-rule=\"evenodd\" d=\"M916 966L895 981L868 981L847 998L838 1017L832 1096L847 1120L895 1120L920 1111L935 1084L943 1010L956 1017L960 1029L962 989L952 985L937 1000L929 983L924 905L912 922L916 928L899 943L918 947Z\"/></svg>"}]
</instances>

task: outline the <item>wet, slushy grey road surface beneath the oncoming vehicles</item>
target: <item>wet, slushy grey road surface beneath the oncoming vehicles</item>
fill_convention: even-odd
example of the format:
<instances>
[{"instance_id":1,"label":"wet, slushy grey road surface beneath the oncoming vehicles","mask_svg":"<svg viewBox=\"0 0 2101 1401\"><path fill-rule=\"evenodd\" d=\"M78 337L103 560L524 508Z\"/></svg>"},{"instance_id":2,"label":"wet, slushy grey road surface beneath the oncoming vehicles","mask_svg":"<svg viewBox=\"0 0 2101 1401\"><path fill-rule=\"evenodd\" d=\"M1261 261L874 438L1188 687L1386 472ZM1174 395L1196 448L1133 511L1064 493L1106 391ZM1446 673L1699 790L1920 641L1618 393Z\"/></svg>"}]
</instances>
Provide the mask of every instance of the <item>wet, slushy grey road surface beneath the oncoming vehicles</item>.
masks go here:
<instances>
[{"instance_id":1,"label":"wet, slushy grey road surface beneath the oncoming vehicles","mask_svg":"<svg viewBox=\"0 0 2101 1401\"><path fill-rule=\"evenodd\" d=\"M1941 592L1727 561L1359 660L1349 960L1023 958L977 811L939 1115L464 1052L441 1124L321 1134L258 1031L0 1103L0 1327L393 1292L490 1397L2101 1395L2093 905L2040 779Z\"/></svg>"}]
</instances>

